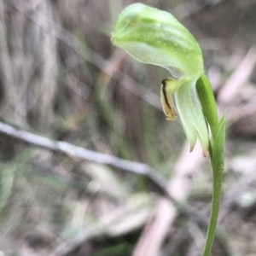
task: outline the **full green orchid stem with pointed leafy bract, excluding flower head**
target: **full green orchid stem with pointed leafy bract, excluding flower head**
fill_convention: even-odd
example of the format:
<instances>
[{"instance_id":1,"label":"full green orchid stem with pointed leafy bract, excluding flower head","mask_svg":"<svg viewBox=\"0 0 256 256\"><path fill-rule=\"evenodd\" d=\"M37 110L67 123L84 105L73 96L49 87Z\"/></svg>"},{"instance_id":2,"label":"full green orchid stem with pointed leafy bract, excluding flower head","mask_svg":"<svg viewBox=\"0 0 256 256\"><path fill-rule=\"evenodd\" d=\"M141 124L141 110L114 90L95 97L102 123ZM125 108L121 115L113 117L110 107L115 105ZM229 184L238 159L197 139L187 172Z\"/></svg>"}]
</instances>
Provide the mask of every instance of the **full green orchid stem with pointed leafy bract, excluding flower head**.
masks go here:
<instances>
[{"instance_id":1,"label":"full green orchid stem with pointed leafy bract, excluding flower head","mask_svg":"<svg viewBox=\"0 0 256 256\"><path fill-rule=\"evenodd\" d=\"M207 240L202 254L203 256L209 256L218 224L219 202L224 172L225 117L218 121L217 106L212 93L212 86L205 74L197 80L196 89L204 116L212 131L212 139L209 145L213 173L212 209L207 230Z\"/></svg>"}]
</instances>

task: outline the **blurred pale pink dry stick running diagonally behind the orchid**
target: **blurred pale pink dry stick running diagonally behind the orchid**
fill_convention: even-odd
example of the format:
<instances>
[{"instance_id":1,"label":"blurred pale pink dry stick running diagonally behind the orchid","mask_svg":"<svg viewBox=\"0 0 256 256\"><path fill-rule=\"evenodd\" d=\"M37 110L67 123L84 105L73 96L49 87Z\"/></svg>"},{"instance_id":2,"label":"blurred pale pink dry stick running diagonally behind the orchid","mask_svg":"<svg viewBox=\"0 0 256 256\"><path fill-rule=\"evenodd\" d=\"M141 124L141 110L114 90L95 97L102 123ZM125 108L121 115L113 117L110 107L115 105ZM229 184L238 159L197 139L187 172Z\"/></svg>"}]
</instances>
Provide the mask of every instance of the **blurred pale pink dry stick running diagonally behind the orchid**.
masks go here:
<instances>
[{"instance_id":1,"label":"blurred pale pink dry stick running diagonally behind the orchid","mask_svg":"<svg viewBox=\"0 0 256 256\"><path fill-rule=\"evenodd\" d=\"M220 98L218 99L218 103L220 105L227 106L232 102L234 97L236 97L242 84L245 84L247 79L249 79L249 76L253 71L255 61L256 51L255 48L251 48L230 79L224 84L224 89L222 91L225 91L225 94L230 94L231 90L232 93L231 96L225 96L221 91L219 94ZM230 84L234 87L232 86L232 88L230 88ZM168 183L167 189L175 200L185 201L187 199L190 184L185 177L186 175L193 176L203 162L201 152L196 151L192 154L186 155L186 152L189 151L188 148L189 147L187 145L184 146L183 153L177 160L177 164L174 166L174 170L176 170L176 172ZM179 191L180 195L177 197L177 193ZM160 247L176 217L177 212L175 206L169 201L166 201L166 199L161 199L158 207L156 207L154 215L148 220L132 256L160 255Z\"/></svg>"}]
</instances>

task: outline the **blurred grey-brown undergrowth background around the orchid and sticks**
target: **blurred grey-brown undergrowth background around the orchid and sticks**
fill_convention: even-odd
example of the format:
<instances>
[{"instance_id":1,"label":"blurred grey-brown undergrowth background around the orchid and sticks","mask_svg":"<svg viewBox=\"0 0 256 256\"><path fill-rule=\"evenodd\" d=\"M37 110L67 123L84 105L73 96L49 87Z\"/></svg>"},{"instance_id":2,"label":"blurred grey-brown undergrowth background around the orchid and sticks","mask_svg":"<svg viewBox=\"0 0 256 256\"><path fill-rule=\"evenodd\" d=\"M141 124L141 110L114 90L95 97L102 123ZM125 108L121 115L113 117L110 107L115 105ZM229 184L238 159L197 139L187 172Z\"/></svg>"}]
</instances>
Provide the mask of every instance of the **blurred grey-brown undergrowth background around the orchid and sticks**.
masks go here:
<instances>
[{"instance_id":1,"label":"blurred grey-brown undergrowth background around the orchid and sticks","mask_svg":"<svg viewBox=\"0 0 256 256\"><path fill-rule=\"evenodd\" d=\"M189 149L179 121L167 122L160 108L168 73L110 42L119 12L134 2L0 0L0 124L145 163L170 183ZM142 2L172 12L195 35L219 113L227 113L212 255L256 255L256 1ZM3 255L149 255L132 254L161 198L146 177L21 142L2 127ZM207 217L209 160L195 169L186 202ZM201 255L204 225L177 213L167 229L154 255Z\"/></svg>"}]
</instances>

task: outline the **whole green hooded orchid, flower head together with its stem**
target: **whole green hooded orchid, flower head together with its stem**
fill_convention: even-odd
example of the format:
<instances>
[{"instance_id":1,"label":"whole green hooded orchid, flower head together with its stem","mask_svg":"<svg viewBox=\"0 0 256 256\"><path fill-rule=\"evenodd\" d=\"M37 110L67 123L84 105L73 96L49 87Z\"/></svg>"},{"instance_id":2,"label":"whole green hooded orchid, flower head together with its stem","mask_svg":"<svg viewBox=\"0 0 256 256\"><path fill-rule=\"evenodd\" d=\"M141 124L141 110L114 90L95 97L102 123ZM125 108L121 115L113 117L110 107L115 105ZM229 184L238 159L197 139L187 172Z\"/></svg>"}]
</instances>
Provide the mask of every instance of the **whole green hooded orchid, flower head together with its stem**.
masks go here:
<instances>
[{"instance_id":1,"label":"whole green hooded orchid, flower head together with its stem","mask_svg":"<svg viewBox=\"0 0 256 256\"><path fill-rule=\"evenodd\" d=\"M212 87L203 70L200 46L170 13L143 3L131 4L122 11L114 26L112 42L137 61L170 71L172 78L163 80L160 90L166 119L179 116L190 151L197 139L204 156L209 150L213 177L212 211L202 253L209 256L218 223L224 172L225 116L218 120Z\"/></svg>"}]
</instances>

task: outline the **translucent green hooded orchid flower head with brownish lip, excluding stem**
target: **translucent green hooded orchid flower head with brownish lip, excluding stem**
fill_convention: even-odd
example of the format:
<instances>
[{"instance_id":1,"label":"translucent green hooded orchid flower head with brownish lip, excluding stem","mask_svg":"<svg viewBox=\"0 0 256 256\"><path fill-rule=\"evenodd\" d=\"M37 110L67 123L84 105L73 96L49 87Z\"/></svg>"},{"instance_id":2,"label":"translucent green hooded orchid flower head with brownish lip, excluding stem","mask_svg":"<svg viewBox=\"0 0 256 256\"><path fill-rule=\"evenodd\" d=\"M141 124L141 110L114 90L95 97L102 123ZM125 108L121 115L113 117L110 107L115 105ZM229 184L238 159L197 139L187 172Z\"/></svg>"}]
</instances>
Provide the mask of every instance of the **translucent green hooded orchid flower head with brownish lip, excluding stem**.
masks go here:
<instances>
[{"instance_id":1,"label":"translucent green hooded orchid flower head with brownish lip, excluding stem","mask_svg":"<svg viewBox=\"0 0 256 256\"><path fill-rule=\"evenodd\" d=\"M137 61L170 71L172 78L162 82L160 92L164 113L168 120L176 119L178 114L190 151L198 138L207 156L207 122L196 92L197 80L204 73L203 60L191 33L170 13L134 3L119 15L112 42Z\"/></svg>"}]
</instances>

